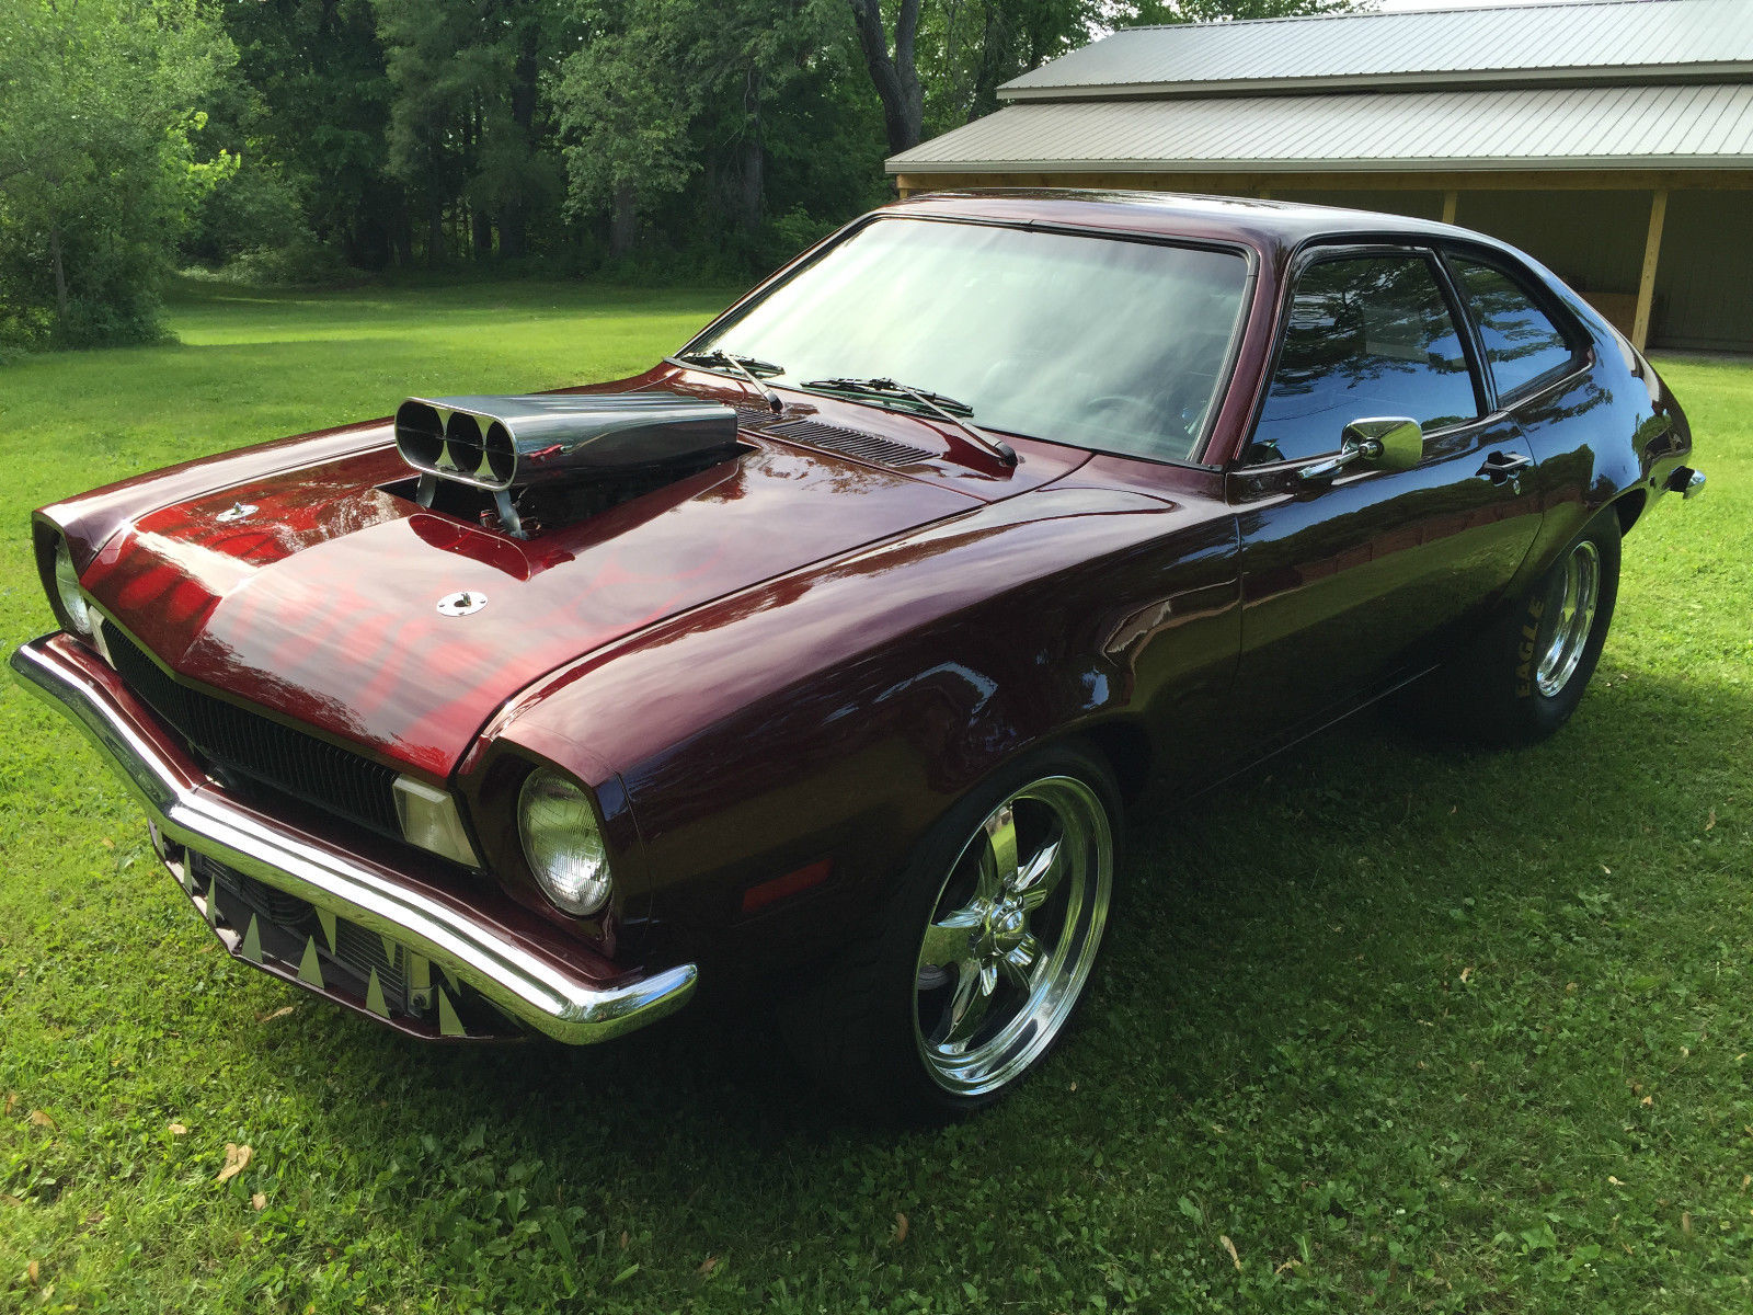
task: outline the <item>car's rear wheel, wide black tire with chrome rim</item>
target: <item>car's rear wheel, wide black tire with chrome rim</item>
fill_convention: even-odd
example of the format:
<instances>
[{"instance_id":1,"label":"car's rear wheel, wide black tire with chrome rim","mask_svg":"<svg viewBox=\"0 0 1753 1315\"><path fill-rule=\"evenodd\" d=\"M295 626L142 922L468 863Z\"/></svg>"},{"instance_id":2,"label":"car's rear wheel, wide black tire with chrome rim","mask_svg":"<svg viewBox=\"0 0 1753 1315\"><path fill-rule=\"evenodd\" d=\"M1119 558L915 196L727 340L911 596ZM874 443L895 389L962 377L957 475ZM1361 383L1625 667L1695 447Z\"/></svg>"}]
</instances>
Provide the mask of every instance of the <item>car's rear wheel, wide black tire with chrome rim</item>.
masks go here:
<instances>
[{"instance_id":1,"label":"car's rear wheel, wide black tire with chrome rim","mask_svg":"<svg viewBox=\"0 0 1753 1315\"><path fill-rule=\"evenodd\" d=\"M1416 689L1453 738L1537 743L1583 700L1620 593L1620 519L1608 507L1473 645Z\"/></svg>"}]
</instances>

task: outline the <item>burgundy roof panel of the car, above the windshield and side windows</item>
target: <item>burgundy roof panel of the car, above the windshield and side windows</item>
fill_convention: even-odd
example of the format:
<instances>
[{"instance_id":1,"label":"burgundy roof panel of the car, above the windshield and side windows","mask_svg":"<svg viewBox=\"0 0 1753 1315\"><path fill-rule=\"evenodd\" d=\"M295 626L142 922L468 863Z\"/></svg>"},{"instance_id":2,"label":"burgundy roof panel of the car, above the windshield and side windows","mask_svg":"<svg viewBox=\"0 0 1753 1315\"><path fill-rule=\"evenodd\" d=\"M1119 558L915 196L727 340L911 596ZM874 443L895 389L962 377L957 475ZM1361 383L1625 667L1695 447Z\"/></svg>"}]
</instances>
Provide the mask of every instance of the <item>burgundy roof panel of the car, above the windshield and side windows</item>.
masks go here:
<instances>
[{"instance_id":1,"label":"burgundy roof panel of the car, above the windshield and side windows","mask_svg":"<svg viewBox=\"0 0 1753 1315\"><path fill-rule=\"evenodd\" d=\"M884 212L1092 228L1199 242L1241 242L1266 254L1280 254L1313 238L1448 237L1502 247L1481 233L1430 219L1304 202L1167 191L976 188L912 196L884 207Z\"/></svg>"}]
</instances>

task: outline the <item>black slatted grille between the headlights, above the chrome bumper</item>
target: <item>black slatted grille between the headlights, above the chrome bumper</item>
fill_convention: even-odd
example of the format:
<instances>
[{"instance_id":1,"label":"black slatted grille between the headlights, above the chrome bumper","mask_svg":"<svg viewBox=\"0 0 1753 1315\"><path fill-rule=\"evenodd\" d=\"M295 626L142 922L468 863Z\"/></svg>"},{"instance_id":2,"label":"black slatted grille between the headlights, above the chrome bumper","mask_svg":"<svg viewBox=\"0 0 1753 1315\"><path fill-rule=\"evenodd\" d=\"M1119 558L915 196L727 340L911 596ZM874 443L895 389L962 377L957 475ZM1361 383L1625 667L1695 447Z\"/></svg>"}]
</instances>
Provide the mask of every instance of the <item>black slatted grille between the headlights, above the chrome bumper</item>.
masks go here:
<instances>
[{"instance_id":1,"label":"black slatted grille between the headlights, above the chrome bumper","mask_svg":"<svg viewBox=\"0 0 1753 1315\"><path fill-rule=\"evenodd\" d=\"M196 756L317 808L400 836L396 770L172 679L116 626L103 626L116 675Z\"/></svg>"}]
</instances>

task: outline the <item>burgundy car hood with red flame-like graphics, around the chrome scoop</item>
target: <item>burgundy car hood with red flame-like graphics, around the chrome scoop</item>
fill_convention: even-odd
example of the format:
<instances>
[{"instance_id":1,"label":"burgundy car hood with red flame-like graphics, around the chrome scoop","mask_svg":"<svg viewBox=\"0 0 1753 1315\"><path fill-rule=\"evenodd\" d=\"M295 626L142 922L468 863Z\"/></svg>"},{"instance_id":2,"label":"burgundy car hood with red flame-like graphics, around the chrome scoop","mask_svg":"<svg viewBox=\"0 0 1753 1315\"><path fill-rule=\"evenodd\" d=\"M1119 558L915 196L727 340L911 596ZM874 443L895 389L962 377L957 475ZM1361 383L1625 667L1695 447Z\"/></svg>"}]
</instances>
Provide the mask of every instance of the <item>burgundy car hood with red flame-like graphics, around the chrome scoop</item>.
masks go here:
<instances>
[{"instance_id":1,"label":"burgundy car hood with red flame-like graphics, around the chrome scoop","mask_svg":"<svg viewBox=\"0 0 1753 1315\"><path fill-rule=\"evenodd\" d=\"M545 672L982 505L749 442L736 459L528 542L417 507L403 496L407 466L372 451L149 512L82 579L177 675L445 777L493 712ZM440 614L456 593L484 601Z\"/></svg>"}]
</instances>

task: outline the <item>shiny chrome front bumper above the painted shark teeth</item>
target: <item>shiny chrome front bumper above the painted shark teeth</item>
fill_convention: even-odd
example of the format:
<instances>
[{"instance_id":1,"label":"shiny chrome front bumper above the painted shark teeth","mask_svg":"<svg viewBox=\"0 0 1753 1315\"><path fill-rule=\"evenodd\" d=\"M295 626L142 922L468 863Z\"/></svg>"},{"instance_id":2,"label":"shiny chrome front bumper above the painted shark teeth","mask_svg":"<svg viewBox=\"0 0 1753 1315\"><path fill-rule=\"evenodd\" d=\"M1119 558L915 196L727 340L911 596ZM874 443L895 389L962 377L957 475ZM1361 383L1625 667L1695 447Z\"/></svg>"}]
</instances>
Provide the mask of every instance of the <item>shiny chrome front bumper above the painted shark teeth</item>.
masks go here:
<instances>
[{"instance_id":1,"label":"shiny chrome front bumper above the painted shark teeth","mask_svg":"<svg viewBox=\"0 0 1753 1315\"><path fill-rule=\"evenodd\" d=\"M586 971L593 964L582 952L564 945L549 952L510 931L503 919L233 801L154 722L128 707L131 700L109 668L67 636L25 643L11 665L30 693L65 714L116 768L145 808L160 856L186 887L188 864L179 863L179 850L203 854L310 903L324 926L340 917L393 938L407 954L429 961L452 984L479 991L519 1024L573 1045L643 1027L694 992L694 964L628 975L600 961L594 964L600 973ZM196 906L212 922L210 899L203 905L196 898ZM235 956L266 966L247 952L245 936L223 940ZM321 991L321 984L300 975L277 975ZM458 1034L449 1026L435 1031Z\"/></svg>"}]
</instances>

